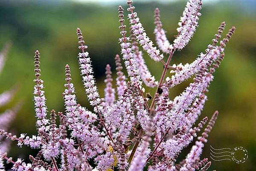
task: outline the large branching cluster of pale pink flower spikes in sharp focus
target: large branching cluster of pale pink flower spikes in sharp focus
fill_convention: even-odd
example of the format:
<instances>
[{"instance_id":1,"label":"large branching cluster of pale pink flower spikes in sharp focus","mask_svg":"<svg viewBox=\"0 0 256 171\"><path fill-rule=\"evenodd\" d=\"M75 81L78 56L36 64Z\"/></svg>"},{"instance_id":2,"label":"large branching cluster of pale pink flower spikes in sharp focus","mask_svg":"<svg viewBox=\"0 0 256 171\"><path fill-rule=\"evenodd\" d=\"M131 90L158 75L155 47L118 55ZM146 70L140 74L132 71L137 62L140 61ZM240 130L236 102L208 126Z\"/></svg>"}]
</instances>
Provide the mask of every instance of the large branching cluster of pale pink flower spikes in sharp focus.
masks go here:
<instances>
[{"instance_id":1,"label":"large branching cluster of pale pink flower spikes in sharp focus","mask_svg":"<svg viewBox=\"0 0 256 171\"><path fill-rule=\"evenodd\" d=\"M36 157L29 156L31 162L26 163L22 159L7 157L9 144L4 143L0 146L0 171L4 171L4 160L12 163L12 170L15 171L143 171L146 165L148 171L206 171L210 167L211 162L200 156L218 111L214 112L208 123L207 116L196 122L207 101L213 74L224 59L226 44L234 34L235 27L221 40L226 25L222 22L212 43L192 63L170 65L175 51L183 49L195 33L201 16L201 0L189 0L186 4L173 43L167 39L163 29L160 10L155 9L154 34L159 49L146 34L134 11L133 1L128 0L127 4L128 17L125 17L123 7L118 7L120 56L115 56L116 75L112 75L111 66L106 65L103 97L98 92L88 46L85 45L81 29L76 30L81 79L92 111L78 103L67 64L63 93L65 110L48 112L44 81L40 78L40 52L35 52L34 103L38 133L15 136L7 132L16 111L7 110L0 116L0 135L17 141L19 147L27 145L39 151ZM125 25L125 18L130 22L130 30ZM131 36L127 35L128 32ZM154 61L163 64L159 81L145 64L140 48ZM163 54L167 54L166 58ZM121 58L127 75L122 71ZM168 69L171 70L170 74ZM113 80L115 77L116 83ZM192 77L193 81L185 90L170 99L169 90ZM151 95L145 92L144 87L154 88L155 93ZM12 91L3 93L0 106L12 96ZM203 128L204 132L200 133ZM176 163L183 148L198 134L201 136L186 158Z\"/></svg>"}]
</instances>

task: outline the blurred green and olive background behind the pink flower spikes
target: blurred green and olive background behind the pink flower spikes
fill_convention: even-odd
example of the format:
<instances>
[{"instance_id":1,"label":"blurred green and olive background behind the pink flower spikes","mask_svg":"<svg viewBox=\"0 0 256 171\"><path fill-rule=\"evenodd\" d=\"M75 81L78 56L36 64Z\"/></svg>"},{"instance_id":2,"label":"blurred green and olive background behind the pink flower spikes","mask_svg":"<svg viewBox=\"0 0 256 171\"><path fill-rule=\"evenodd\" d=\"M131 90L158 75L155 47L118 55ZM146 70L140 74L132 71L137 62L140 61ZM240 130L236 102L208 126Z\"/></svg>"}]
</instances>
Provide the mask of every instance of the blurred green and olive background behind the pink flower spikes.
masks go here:
<instances>
[{"instance_id":1,"label":"blurred green and olive background behind the pink flower spikes","mask_svg":"<svg viewBox=\"0 0 256 171\"><path fill-rule=\"evenodd\" d=\"M203 0L204 2L204 0ZM154 41L154 8L159 7L163 27L169 40L176 35L177 23L186 1L141 1L135 0L136 11L147 34ZM125 0L105 3L78 2L67 0L0 0L0 48L6 41L13 45L6 65L0 75L0 93L18 86L19 91L11 103L0 109L3 112L14 103L23 101L23 107L12 124L12 132L35 134L33 105L34 52L41 52L41 78L44 80L47 107L49 110L64 111L65 64L71 67L73 82L79 103L88 108L77 62L76 28L82 29L84 40L97 79L101 96L104 95L105 65L111 64L114 71L114 56L119 53L119 23L117 7ZM126 14L127 11L125 10ZM236 26L236 33L225 51L225 59L215 73L209 88L208 101L202 113L210 117L219 110L219 117L205 145L203 157L209 158L210 145L214 148L235 148L243 146L249 157L243 164L232 161L212 161L210 170L255 171L256 170L256 1L254 0L208 0L201 10L199 27L192 41L182 52L176 52L172 64L193 61L207 45L222 21L226 30ZM128 24L127 20L126 23ZM160 78L163 66L155 64L144 55L151 72ZM113 74L114 77L116 74ZM178 95L189 81L171 90L171 96ZM154 92L154 90L151 92ZM91 109L91 108L90 108ZM186 156L191 145L179 159ZM13 143L9 156L28 159L28 154L37 150L17 148Z\"/></svg>"}]
</instances>

